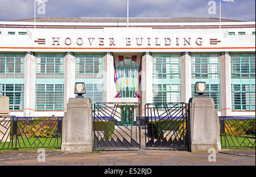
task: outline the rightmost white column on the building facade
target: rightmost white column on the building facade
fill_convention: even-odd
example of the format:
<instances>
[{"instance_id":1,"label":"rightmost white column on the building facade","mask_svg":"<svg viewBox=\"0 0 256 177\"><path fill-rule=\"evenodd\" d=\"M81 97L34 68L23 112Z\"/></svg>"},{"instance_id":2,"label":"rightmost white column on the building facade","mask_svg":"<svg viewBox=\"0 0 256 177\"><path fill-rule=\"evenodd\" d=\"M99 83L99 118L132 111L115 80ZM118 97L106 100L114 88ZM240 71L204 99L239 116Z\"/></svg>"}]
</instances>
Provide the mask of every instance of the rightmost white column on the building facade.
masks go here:
<instances>
[{"instance_id":1,"label":"rightmost white column on the building facade","mask_svg":"<svg viewBox=\"0 0 256 177\"><path fill-rule=\"evenodd\" d=\"M229 52L220 56L221 116L232 115L231 58Z\"/></svg>"}]
</instances>

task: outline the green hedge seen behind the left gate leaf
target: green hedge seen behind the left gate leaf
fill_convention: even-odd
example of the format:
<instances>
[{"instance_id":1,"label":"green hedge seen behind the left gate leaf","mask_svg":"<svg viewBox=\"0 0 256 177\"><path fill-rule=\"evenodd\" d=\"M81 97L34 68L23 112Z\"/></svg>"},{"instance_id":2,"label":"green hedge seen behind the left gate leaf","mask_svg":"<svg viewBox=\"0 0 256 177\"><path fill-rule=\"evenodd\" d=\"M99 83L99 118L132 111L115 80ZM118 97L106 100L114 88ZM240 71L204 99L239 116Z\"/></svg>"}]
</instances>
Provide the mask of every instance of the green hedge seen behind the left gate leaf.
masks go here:
<instances>
[{"instance_id":1,"label":"green hedge seen behind the left gate leaf","mask_svg":"<svg viewBox=\"0 0 256 177\"><path fill-rule=\"evenodd\" d=\"M105 138L110 138L115 130L115 124L110 121L93 121L93 131L104 132Z\"/></svg>"}]
</instances>

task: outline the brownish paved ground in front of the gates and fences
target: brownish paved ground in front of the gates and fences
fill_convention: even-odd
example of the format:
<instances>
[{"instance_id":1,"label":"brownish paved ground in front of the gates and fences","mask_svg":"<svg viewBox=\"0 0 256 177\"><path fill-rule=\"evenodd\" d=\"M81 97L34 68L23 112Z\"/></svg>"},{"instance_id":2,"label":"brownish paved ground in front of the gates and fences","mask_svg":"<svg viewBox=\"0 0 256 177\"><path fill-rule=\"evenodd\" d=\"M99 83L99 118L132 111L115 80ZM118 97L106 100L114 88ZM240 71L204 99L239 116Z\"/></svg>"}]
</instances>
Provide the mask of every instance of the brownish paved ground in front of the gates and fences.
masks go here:
<instances>
[{"instance_id":1,"label":"brownish paved ground in front of the gates and fences","mask_svg":"<svg viewBox=\"0 0 256 177\"><path fill-rule=\"evenodd\" d=\"M224 150L216 154L216 162L209 162L209 153L175 150L142 149L141 151L101 151L75 154L63 153L60 150L46 150L46 162L39 162L37 159L39 153L36 150L6 151L0 153L0 166L255 166L255 150L240 150L236 153L240 155L232 155L234 152L229 153L228 150Z\"/></svg>"}]
</instances>

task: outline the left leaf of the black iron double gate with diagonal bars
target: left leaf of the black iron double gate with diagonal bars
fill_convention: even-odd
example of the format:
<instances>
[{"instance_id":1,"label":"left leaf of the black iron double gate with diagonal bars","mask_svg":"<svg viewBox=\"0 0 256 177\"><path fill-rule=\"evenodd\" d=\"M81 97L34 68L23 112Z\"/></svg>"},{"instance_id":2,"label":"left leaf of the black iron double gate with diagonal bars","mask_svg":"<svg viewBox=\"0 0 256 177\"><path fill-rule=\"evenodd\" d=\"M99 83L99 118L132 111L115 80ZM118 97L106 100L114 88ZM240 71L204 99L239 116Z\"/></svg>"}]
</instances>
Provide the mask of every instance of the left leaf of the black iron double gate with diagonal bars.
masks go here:
<instances>
[{"instance_id":1,"label":"left leaf of the black iron double gate with diagonal bars","mask_svg":"<svg viewBox=\"0 0 256 177\"><path fill-rule=\"evenodd\" d=\"M141 148L139 103L95 103L93 150Z\"/></svg>"}]
</instances>

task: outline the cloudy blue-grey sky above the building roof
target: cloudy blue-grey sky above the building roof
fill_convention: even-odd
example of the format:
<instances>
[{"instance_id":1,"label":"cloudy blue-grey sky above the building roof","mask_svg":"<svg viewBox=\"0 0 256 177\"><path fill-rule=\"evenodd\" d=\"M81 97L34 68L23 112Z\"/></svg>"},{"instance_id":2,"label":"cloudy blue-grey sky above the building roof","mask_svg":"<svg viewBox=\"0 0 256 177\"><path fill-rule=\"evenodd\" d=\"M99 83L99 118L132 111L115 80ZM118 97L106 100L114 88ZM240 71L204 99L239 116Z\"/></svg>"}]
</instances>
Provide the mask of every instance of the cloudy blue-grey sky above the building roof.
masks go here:
<instances>
[{"instance_id":1,"label":"cloudy blue-grey sky above the building roof","mask_svg":"<svg viewBox=\"0 0 256 177\"><path fill-rule=\"evenodd\" d=\"M129 0L129 17L218 18L219 4L219 0ZM42 7L36 3L36 17L127 17L127 0L48 0L45 14ZM0 21L26 18L34 18L34 0L0 0ZM221 18L255 21L255 0L221 2Z\"/></svg>"}]
</instances>

